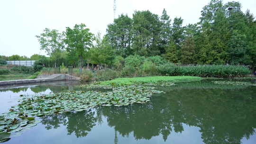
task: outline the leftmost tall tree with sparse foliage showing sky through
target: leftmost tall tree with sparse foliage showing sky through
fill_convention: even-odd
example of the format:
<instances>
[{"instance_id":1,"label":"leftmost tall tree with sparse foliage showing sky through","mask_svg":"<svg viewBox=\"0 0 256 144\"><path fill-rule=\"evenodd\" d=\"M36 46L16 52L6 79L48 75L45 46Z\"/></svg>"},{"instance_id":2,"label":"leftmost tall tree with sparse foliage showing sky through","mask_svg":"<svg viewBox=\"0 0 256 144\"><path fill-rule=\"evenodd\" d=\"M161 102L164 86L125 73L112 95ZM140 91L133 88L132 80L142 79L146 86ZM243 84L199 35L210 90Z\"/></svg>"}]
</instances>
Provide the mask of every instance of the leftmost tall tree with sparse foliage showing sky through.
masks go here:
<instances>
[{"instance_id":1,"label":"leftmost tall tree with sparse foliage showing sky through","mask_svg":"<svg viewBox=\"0 0 256 144\"><path fill-rule=\"evenodd\" d=\"M53 58L56 67L56 61L58 59L56 55L64 48L63 35L58 30L46 28L44 33L36 37L41 45L41 50L45 50Z\"/></svg>"}]
</instances>

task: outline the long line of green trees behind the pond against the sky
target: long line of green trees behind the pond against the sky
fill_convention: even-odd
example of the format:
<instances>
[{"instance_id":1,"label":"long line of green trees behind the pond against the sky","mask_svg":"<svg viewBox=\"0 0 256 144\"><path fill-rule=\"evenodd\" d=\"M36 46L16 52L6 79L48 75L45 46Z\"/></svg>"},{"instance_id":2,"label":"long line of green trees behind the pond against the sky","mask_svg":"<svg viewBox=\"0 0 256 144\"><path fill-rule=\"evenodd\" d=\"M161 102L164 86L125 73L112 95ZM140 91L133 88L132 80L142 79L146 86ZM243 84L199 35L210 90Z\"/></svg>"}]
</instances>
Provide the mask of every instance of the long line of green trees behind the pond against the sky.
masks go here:
<instances>
[{"instance_id":1,"label":"long line of green trees behind the pond against the sky","mask_svg":"<svg viewBox=\"0 0 256 144\"><path fill-rule=\"evenodd\" d=\"M103 38L84 24L64 32L46 28L37 38L49 55L40 58L48 66L113 65L130 55L161 56L178 64L239 64L251 69L256 64L256 20L235 1L211 0L200 21L187 26L182 18L171 20L165 9L161 16L146 10L135 11L132 18L120 15Z\"/></svg>"}]
</instances>

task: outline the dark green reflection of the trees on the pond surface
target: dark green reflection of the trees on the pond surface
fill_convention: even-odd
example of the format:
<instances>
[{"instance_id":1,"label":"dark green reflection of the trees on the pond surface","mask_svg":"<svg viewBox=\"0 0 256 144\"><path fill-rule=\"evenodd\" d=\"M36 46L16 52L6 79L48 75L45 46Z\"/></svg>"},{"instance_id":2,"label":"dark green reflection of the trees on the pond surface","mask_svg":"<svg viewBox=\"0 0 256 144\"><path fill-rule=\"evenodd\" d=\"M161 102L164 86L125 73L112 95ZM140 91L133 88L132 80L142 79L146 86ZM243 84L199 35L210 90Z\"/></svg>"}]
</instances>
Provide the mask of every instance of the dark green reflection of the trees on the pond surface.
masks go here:
<instances>
[{"instance_id":1,"label":"dark green reflection of the trees on the pond surface","mask_svg":"<svg viewBox=\"0 0 256 144\"><path fill-rule=\"evenodd\" d=\"M255 89L183 89L166 90L147 104L126 107L100 107L97 113L83 111L48 117L46 127L62 123L68 134L86 136L96 122L107 117L109 126L125 136L133 132L135 139L151 139L163 135L166 140L172 133L182 133L183 123L200 127L205 144L240 144L256 128ZM66 121L64 120L66 119ZM59 121L58 121L59 120Z\"/></svg>"}]
</instances>

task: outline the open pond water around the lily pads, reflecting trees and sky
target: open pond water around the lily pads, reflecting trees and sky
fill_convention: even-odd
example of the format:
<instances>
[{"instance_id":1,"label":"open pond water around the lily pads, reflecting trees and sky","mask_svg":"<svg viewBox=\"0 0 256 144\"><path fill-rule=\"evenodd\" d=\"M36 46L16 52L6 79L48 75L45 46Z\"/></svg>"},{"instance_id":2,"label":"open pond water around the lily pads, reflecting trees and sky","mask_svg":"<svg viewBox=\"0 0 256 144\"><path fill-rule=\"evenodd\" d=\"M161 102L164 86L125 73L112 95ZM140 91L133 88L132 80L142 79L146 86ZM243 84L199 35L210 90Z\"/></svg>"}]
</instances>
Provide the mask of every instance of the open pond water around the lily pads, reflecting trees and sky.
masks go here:
<instances>
[{"instance_id":1,"label":"open pond water around the lily pads, reflecting trees and sky","mask_svg":"<svg viewBox=\"0 0 256 144\"><path fill-rule=\"evenodd\" d=\"M0 113L19 95L75 90L74 83L0 89ZM3 144L256 144L256 86L210 80L158 87L146 104L41 117Z\"/></svg>"}]
</instances>

